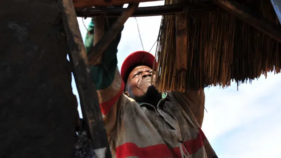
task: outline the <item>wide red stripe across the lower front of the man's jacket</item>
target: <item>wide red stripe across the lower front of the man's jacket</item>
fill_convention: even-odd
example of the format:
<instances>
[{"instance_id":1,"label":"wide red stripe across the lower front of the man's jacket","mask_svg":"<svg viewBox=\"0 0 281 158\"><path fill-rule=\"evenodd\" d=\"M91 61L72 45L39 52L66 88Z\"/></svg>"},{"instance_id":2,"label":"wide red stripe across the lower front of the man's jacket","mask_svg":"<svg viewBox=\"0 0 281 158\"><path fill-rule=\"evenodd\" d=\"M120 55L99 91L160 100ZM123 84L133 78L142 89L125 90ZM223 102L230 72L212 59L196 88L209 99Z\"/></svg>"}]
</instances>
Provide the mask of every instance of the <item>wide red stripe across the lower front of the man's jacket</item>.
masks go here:
<instances>
[{"instance_id":1,"label":"wide red stripe across the lower front of the man's jacket","mask_svg":"<svg viewBox=\"0 0 281 158\"><path fill-rule=\"evenodd\" d=\"M201 129L199 129L200 131ZM145 141L145 140L144 140ZM203 147L201 132L197 138L183 142L187 152L192 155ZM139 157L139 158L181 158L180 147L170 150L166 144L157 144L148 147L138 147L134 143L124 143L116 148L117 158Z\"/></svg>"}]
</instances>

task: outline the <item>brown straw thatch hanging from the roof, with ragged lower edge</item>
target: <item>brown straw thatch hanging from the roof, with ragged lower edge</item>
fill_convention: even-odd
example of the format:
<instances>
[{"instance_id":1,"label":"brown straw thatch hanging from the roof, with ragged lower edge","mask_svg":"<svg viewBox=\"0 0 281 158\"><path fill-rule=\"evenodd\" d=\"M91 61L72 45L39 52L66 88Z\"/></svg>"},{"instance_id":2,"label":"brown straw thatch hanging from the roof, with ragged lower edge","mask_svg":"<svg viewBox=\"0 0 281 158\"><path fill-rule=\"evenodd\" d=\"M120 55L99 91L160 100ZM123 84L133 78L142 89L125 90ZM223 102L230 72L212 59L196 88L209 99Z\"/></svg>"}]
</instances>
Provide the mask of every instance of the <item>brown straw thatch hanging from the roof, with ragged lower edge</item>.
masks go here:
<instances>
[{"instance_id":1,"label":"brown straw thatch hanging from the roof, with ragged lower edge","mask_svg":"<svg viewBox=\"0 0 281 158\"><path fill-rule=\"evenodd\" d=\"M175 1L165 0L165 3ZM270 0L247 0L244 5L278 23ZM227 87L233 79L239 85L261 74L266 76L268 71L280 73L281 43L249 24L220 8L187 12L184 18L187 19L187 40L176 36L180 33L176 28L176 16L162 18L156 52L159 91ZM186 48L186 52L176 55L177 44ZM183 61L186 65L177 65Z\"/></svg>"}]
</instances>

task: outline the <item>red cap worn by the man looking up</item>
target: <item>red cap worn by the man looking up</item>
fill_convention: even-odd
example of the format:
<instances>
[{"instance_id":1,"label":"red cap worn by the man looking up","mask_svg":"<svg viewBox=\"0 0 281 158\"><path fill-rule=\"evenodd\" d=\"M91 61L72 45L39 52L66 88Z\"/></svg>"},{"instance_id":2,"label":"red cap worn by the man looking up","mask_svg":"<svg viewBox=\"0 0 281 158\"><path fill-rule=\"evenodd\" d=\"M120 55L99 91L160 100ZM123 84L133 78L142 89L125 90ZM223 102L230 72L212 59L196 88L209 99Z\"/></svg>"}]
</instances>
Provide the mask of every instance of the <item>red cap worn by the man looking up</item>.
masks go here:
<instances>
[{"instance_id":1,"label":"red cap worn by the man looking up","mask_svg":"<svg viewBox=\"0 0 281 158\"><path fill-rule=\"evenodd\" d=\"M130 54L124 61L123 64L121 66L121 78L123 79L123 81L126 81L127 79L125 79L127 77L128 70L136 65L136 64L142 64L145 66L148 66L150 68L153 68L153 62L155 61L156 65L155 68L157 66L157 61L154 58L154 56L152 54L150 54L149 52L145 52L145 51L137 51L134 52L132 54Z\"/></svg>"}]
</instances>

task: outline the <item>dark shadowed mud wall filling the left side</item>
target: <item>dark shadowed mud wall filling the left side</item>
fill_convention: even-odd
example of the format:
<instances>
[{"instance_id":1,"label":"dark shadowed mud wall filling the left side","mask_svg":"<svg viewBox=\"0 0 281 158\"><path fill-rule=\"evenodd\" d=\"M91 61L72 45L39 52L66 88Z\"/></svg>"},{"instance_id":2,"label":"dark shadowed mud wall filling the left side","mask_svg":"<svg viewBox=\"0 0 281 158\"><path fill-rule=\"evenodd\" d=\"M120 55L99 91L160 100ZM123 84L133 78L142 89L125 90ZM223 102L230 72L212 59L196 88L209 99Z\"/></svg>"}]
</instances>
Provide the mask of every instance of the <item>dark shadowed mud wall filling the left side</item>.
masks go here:
<instances>
[{"instance_id":1,"label":"dark shadowed mud wall filling the left side","mask_svg":"<svg viewBox=\"0 0 281 158\"><path fill-rule=\"evenodd\" d=\"M56 0L0 5L0 158L70 158L77 107Z\"/></svg>"}]
</instances>

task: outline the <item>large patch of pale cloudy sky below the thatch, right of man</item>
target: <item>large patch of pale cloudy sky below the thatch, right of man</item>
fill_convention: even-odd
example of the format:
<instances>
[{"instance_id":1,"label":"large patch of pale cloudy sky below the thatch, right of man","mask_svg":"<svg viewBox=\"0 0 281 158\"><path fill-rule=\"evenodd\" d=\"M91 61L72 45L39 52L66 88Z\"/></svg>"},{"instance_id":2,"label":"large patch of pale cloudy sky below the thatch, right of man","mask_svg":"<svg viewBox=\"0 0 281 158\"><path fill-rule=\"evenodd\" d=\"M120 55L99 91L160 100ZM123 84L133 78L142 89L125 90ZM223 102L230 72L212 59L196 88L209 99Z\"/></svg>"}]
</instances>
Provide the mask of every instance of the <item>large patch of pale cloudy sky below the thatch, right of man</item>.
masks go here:
<instances>
[{"instance_id":1,"label":"large patch of pale cloudy sky below the thatch, right of man","mask_svg":"<svg viewBox=\"0 0 281 158\"><path fill-rule=\"evenodd\" d=\"M205 89L202 129L222 158L281 158L281 74Z\"/></svg>"}]
</instances>

